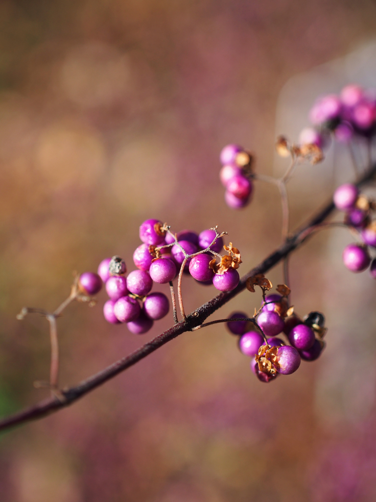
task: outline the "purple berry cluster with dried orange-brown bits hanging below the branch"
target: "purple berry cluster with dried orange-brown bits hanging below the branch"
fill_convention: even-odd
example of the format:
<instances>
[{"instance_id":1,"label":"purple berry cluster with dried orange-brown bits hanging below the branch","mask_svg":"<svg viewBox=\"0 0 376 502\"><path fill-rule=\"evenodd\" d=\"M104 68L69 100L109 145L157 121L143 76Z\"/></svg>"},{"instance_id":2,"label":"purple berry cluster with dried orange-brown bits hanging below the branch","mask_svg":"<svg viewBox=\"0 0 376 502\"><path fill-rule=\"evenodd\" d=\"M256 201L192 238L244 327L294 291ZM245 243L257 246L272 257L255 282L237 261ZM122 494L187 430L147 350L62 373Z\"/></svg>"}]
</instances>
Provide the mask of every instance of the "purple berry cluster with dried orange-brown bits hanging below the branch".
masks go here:
<instances>
[{"instance_id":1,"label":"purple berry cluster with dried orange-brown bits hanging below the branch","mask_svg":"<svg viewBox=\"0 0 376 502\"><path fill-rule=\"evenodd\" d=\"M257 323L268 340L269 347L258 331L249 330L248 321L228 322L231 333L239 336L241 352L252 357L251 368L261 382L270 382L278 374L294 373L301 359L314 361L319 357L324 342L325 319L319 312L310 312L304 320L297 315L284 317L288 304L286 297L272 294L266 298ZM230 319L247 317L244 312L234 312ZM277 335L284 333L290 345Z\"/></svg>"}]
</instances>

